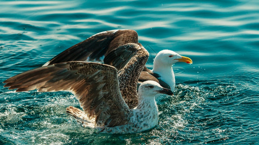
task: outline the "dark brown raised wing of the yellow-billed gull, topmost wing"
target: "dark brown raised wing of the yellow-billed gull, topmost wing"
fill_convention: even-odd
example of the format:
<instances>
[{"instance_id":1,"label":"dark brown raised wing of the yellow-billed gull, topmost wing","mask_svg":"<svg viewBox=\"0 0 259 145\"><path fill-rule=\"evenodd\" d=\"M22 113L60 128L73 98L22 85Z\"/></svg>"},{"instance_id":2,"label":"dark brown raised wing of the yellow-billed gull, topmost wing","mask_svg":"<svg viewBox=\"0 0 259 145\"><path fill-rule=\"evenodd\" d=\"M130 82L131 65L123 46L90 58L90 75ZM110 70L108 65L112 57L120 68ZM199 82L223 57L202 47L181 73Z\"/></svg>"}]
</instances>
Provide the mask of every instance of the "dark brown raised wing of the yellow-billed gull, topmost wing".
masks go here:
<instances>
[{"instance_id":1,"label":"dark brown raised wing of the yellow-billed gull, topmost wing","mask_svg":"<svg viewBox=\"0 0 259 145\"><path fill-rule=\"evenodd\" d=\"M138 43L138 34L134 30L121 29L97 33L88 39L66 49L43 66L66 62L98 60L113 49L126 43Z\"/></svg>"}]
</instances>

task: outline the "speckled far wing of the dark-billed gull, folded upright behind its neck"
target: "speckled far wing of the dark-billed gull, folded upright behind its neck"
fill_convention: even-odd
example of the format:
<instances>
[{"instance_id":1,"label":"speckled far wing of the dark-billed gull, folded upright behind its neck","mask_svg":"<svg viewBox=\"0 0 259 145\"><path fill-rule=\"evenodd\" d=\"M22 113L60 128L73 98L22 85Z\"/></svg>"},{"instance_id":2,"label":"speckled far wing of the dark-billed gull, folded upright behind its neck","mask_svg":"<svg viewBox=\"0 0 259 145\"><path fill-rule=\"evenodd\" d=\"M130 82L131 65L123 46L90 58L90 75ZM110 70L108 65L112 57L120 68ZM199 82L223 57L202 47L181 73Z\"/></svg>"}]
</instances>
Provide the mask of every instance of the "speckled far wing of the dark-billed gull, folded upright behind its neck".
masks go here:
<instances>
[{"instance_id":1,"label":"speckled far wing of the dark-billed gull, folded upright behind its neck","mask_svg":"<svg viewBox=\"0 0 259 145\"><path fill-rule=\"evenodd\" d=\"M148 57L149 53L140 43L127 43L111 51L104 58L106 64L113 65L119 70L121 94L131 109L138 104L138 80Z\"/></svg>"}]
</instances>

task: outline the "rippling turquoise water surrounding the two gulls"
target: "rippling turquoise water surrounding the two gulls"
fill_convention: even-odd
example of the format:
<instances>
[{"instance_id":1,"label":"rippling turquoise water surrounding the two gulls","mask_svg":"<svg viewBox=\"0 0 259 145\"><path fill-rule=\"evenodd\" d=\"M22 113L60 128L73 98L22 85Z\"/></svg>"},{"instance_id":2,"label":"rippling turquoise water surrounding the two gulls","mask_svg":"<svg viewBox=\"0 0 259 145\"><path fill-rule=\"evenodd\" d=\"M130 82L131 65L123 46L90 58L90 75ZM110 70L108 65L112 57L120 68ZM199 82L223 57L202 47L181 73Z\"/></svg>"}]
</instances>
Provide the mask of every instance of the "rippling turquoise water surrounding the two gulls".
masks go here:
<instances>
[{"instance_id":1,"label":"rippling turquoise water surrounding the two gulls","mask_svg":"<svg viewBox=\"0 0 259 145\"><path fill-rule=\"evenodd\" d=\"M0 85L0 145L259 144L259 0L0 1L0 82L40 67L66 48L111 29L134 29L150 52L192 58L173 66L175 97L159 125L99 134L65 114L71 93L16 93Z\"/></svg>"}]
</instances>

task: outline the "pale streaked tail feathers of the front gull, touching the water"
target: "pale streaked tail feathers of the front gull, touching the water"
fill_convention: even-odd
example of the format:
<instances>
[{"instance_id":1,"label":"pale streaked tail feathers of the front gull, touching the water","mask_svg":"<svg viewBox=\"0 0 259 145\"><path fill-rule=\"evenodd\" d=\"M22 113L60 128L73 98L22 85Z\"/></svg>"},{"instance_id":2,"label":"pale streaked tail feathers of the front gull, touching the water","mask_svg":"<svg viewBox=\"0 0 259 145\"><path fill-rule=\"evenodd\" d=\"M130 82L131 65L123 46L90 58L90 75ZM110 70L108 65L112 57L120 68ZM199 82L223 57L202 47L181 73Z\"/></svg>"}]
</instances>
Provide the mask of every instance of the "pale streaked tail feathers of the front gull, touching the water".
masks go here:
<instances>
[{"instance_id":1,"label":"pale streaked tail feathers of the front gull, touching the water","mask_svg":"<svg viewBox=\"0 0 259 145\"><path fill-rule=\"evenodd\" d=\"M95 118L89 119L88 116L82 110L76 107L67 107L66 114L75 118L77 122L81 123L83 127L95 127Z\"/></svg>"}]
</instances>

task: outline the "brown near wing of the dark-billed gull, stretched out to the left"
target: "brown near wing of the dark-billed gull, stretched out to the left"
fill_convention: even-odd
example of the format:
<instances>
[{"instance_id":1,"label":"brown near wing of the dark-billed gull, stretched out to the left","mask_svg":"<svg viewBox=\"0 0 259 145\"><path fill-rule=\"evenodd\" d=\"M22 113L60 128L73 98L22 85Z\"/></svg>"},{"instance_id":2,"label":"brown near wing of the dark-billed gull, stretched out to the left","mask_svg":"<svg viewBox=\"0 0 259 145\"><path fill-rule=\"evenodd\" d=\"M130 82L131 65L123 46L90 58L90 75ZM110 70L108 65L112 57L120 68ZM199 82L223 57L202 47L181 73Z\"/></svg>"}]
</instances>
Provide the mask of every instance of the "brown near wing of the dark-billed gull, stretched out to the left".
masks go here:
<instances>
[{"instance_id":1,"label":"brown near wing of the dark-billed gull, stretched out to the left","mask_svg":"<svg viewBox=\"0 0 259 145\"><path fill-rule=\"evenodd\" d=\"M105 64L63 62L20 73L3 83L17 92L71 91L88 117L96 118L97 126L124 125L131 113L119 90L117 70Z\"/></svg>"}]
</instances>

